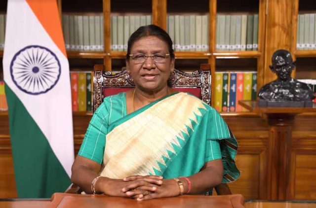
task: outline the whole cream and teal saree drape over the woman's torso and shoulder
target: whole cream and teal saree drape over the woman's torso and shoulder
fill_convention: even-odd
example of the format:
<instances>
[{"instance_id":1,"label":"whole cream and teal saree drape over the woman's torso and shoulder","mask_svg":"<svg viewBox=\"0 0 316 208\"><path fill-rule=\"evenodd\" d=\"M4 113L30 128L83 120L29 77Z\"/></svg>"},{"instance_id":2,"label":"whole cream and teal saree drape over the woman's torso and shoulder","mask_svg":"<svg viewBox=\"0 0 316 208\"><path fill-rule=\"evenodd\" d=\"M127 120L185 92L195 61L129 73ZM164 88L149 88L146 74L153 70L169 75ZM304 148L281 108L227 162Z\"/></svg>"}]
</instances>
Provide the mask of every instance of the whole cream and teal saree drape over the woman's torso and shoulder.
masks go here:
<instances>
[{"instance_id":1,"label":"whole cream and teal saree drape over the woman's torso and shoulder","mask_svg":"<svg viewBox=\"0 0 316 208\"><path fill-rule=\"evenodd\" d=\"M239 176L237 140L227 124L215 109L186 93L123 116L107 132L102 176L190 176L215 159L222 159L223 182Z\"/></svg>"}]
</instances>

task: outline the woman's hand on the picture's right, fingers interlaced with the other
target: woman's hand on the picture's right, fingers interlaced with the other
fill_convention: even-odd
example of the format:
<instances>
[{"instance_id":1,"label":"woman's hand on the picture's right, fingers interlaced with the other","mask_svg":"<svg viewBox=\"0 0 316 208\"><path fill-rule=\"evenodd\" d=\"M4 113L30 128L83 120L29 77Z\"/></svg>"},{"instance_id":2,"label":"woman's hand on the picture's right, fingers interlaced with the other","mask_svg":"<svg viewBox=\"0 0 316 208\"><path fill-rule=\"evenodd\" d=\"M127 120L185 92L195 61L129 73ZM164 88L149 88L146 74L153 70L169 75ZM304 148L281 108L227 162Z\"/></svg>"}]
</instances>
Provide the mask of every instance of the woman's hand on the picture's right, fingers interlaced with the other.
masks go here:
<instances>
[{"instance_id":1,"label":"woman's hand on the picture's right, fingers interlaced with the other","mask_svg":"<svg viewBox=\"0 0 316 208\"><path fill-rule=\"evenodd\" d=\"M164 198L164 197L175 197L180 195L180 188L174 179L165 179L162 180L162 184L156 186L156 190L150 191L147 195L142 195L139 197L139 191L146 190L148 191L147 187L140 186L135 190L128 191L128 195L130 197L135 196L137 201L145 201L150 199L157 199L157 198Z\"/></svg>"}]
</instances>

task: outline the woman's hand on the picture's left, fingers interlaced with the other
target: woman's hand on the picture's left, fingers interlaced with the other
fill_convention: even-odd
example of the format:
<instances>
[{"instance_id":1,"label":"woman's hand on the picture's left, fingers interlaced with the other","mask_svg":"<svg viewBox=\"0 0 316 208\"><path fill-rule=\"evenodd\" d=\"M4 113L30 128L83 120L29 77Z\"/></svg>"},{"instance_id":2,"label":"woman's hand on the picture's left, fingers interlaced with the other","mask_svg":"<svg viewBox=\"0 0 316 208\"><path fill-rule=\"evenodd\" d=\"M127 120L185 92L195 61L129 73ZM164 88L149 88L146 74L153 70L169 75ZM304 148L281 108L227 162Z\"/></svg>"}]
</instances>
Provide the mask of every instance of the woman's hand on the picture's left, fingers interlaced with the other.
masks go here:
<instances>
[{"instance_id":1,"label":"woman's hand on the picture's left, fingers interlaced with the other","mask_svg":"<svg viewBox=\"0 0 316 208\"><path fill-rule=\"evenodd\" d=\"M124 179L111 179L100 177L96 184L96 192L108 196L142 198L155 192L157 186L162 184L162 177L157 175L133 175ZM142 187L142 189L137 189Z\"/></svg>"}]
</instances>

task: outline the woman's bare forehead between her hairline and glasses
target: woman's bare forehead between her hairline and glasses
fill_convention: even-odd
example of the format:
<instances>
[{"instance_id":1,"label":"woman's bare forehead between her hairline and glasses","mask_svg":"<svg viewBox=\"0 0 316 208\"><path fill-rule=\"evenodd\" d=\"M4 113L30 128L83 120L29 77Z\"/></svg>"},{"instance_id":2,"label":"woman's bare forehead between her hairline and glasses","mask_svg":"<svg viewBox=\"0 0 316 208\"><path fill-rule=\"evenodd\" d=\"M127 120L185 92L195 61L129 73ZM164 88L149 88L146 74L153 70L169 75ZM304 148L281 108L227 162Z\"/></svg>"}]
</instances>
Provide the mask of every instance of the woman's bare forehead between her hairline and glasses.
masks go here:
<instances>
[{"instance_id":1,"label":"woman's bare forehead between her hairline and glasses","mask_svg":"<svg viewBox=\"0 0 316 208\"><path fill-rule=\"evenodd\" d=\"M131 51L168 51L168 45L156 36L146 36L136 40Z\"/></svg>"}]
</instances>

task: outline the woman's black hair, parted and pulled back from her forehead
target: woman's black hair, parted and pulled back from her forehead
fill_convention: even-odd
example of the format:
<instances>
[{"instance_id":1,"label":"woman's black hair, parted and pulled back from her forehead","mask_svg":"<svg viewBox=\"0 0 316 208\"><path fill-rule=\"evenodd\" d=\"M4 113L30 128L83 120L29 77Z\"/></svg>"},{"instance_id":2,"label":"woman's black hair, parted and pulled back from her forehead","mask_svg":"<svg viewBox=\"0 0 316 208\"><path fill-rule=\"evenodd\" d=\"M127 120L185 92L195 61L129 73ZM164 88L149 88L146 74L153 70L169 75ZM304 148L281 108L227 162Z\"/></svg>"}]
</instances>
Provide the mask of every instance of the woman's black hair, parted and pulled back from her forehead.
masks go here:
<instances>
[{"instance_id":1,"label":"woman's black hair, parted and pulled back from her forehead","mask_svg":"<svg viewBox=\"0 0 316 208\"><path fill-rule=\"evenodd\" d=\"M170 54L170 58L174 59L174 51L172 49L172 40L170 36L160 27L157 25L147 25L139 27L132 35L130 35L127 43L127 54L126 54L126 61L130 58L130 50L133 44L141 39L142 37L146 36L156 36L168 45L168 50Z\"/></svg>"}]
</instances>

